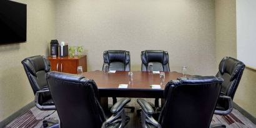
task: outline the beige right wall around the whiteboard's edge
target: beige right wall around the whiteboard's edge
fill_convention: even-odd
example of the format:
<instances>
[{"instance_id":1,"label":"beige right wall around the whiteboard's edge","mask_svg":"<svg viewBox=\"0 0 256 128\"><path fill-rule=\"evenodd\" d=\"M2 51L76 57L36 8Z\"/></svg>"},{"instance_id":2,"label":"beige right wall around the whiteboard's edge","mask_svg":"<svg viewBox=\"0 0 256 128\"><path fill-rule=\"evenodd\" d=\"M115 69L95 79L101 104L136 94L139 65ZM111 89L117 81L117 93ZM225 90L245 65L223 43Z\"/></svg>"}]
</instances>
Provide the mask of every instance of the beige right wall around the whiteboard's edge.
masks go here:
<instances>
[{"instance_id":1,"label":"beige right wall around the whiteboard's edge","mask_svg":"<svg viewBox=\"0 0 256 128\"><path fill-rule=\"evenodd\" d=\"M224 56L237 57L235 0L216 0L216 64ZM256 71L246 68L234 97L235 103L256 117Z\"/></svg>"}]
</instances>

